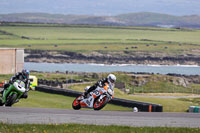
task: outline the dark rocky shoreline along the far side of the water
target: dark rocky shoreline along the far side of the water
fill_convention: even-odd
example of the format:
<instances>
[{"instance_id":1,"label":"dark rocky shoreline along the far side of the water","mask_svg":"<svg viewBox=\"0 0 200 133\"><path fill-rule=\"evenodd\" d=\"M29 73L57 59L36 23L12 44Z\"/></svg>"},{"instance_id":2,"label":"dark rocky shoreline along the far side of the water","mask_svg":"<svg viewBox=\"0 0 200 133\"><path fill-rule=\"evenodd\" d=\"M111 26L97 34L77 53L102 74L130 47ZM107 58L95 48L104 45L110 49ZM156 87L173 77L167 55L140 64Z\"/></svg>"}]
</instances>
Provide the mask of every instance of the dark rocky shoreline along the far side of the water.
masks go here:
<instances>
[{"instance_id":1,"label":"dark rocky shoreline along the far side of the water","mask_svg":"<svg viewBox=\"0 0 200 133\"><path fill-rule=\"evenodd\" d=\"M157 55L150 53L76 53L69 51L26 50L25 62L47 63L79 63L79 64L105 64L105 65L169 65L169 66L200 66L200 55L175 56Z\"/></svg>"}]
</instances>

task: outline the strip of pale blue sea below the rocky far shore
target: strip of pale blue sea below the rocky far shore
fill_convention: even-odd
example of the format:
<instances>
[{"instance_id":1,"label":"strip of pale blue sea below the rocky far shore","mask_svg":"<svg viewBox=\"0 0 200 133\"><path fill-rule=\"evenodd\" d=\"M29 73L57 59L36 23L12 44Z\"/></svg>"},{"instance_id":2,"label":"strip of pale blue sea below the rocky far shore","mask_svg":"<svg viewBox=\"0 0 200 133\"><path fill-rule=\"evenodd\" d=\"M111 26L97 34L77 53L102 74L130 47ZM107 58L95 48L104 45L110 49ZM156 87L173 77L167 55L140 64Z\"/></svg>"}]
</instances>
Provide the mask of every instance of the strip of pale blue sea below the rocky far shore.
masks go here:
<instances>
[{"instance_id":1,"label":"strip of pale blue sea below the rocky far shore","mask_svg":"<svg viewBox=\"0 0 200 133\"><path fill-rule=\"evenodd\" d=\"M197 65L142 65L142 64L79 64L79 63L34 63L25 62L24 68L41 72L134 72L154 74L200 75Z\"/></svg>"}]
</instances>

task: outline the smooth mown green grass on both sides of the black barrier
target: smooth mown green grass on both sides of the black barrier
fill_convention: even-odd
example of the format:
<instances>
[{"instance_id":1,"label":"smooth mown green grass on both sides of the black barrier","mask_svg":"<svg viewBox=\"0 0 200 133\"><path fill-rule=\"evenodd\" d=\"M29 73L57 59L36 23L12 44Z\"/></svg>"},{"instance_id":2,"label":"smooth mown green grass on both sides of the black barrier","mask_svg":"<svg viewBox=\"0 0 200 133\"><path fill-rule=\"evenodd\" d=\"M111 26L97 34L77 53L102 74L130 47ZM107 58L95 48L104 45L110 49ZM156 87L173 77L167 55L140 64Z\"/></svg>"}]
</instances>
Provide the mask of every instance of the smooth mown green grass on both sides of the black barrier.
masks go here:
<instances>
[{"instance_id":1,"label":"smooth mown green grass on both sides of the black barrier","mask_svg":"<svg viewBox=\"0 0 200 133\"><path fill-rule=\"evenodd\" d=\"M155 104L161 104L164 112L186 112L189 106L200 105L200 98L152 98L152 97L134 97L124 94L118 89L115 90L115 97L143 101ZM33 108L59 108L72 109L72 102L75 97L66 97L62 95L48 94L37 91L30 91L28 99L20 99L14 104L15 107L33 107ZM125 108L112 104L106 105L103 110L113 111L132 111L131 108Z\"/></svg>"}]
</instances>

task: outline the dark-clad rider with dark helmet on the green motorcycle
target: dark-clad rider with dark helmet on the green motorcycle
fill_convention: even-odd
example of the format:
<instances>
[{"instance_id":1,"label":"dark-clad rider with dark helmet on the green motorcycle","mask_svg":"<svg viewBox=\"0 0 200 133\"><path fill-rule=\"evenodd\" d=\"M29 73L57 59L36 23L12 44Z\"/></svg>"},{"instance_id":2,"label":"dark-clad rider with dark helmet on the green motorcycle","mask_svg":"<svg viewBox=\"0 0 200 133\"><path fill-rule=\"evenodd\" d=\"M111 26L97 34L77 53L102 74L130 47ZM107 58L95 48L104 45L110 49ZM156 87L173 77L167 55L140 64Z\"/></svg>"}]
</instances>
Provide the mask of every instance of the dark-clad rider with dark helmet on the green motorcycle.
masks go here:
<instances>
[{"instance_id":1,"label":"dark-clad rider with dark helmet on the green motorcycle","mask_svg":"<svg viewBox=\"0 0 200 133\"><path fill-rule=\"evenodd\" d=\"M23 69L22 72L16 73L14 76L12 76L9 80L9 83L4 85L4 89L2 90L1 93L4 92L6 88L10 86L10 84L13 84L16 80L21 80L25 83L25 88L26 91L25 93L21 96L21 98L27 98L28 97L28 91L30 89L30 79L29 79L29 70Z\"/></svg>"}]
</instances>

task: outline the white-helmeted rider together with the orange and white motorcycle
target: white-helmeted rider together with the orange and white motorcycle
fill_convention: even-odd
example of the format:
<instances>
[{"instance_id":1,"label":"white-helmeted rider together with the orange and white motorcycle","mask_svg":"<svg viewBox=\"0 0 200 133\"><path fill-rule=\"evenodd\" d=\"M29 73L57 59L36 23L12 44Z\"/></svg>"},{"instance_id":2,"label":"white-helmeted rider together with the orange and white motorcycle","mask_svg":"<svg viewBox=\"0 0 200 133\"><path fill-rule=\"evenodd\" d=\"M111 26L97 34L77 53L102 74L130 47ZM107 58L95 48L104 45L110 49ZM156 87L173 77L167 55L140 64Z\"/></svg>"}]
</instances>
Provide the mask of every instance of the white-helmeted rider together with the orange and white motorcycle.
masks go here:
<instances>
[{"instance_id":1,"label":"white-helmeted rider together with the orange and white motorcycle","mask_svg":"<svg viewBox=\"0 0 200 133\"><path fill-rule=\"evenodd\" d=\"M106 78L99 80L93 86L87 86L85 93L79 95L73 102L75 110L89 108L101 110L109 101L114 98L114 83L116 76L109 74Z\"/></svg>"}]
</instances>

